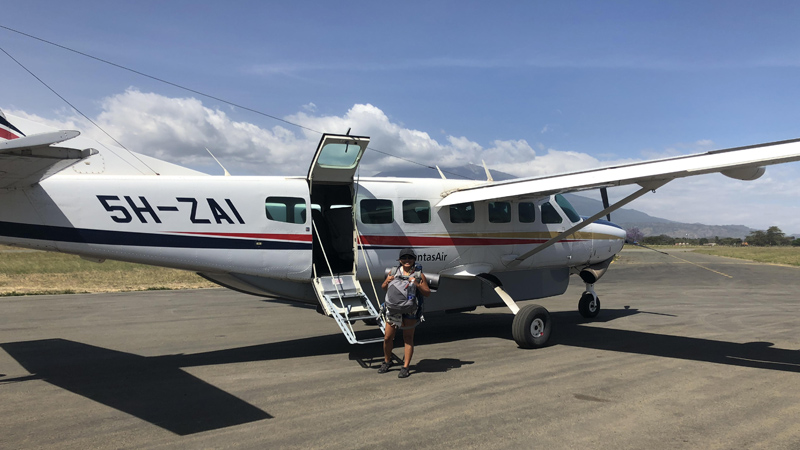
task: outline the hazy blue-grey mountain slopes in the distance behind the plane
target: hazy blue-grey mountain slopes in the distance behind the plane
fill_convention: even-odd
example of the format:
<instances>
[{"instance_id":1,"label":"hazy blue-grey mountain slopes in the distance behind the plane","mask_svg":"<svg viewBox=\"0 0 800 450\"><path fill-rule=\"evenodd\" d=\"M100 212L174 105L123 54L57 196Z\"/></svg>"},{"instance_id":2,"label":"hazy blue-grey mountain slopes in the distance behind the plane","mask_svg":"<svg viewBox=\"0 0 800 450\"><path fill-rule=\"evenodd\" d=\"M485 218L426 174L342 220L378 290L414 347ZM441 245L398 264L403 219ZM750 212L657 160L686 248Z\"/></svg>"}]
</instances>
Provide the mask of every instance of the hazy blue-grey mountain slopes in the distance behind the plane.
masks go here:
<instances>
[{"instance_id":1,"label":"hazy blue-grey mountain slopes in the distance behind the plane","mask_svg":"<svg viewBox=\"0 0 800 450\"><path fill-rule=\"evenodd\" d=\"M482 166L467 164L458 167L442 167L442 172L447 178L486 180L486 172ZM509 173L499 170L489 169L495 181L510 180L518 178ZM383 171L375 174L376 177L398 177L398 178L439 178L436 169L415 168ZM565 197L572 203L572 206L582 216L592 216L603 210L603 202L583 195L566 194ZM600 197L597 194L597 197ZM733 237L744 239L750 232L754 231L744 225L704 225L701 223L681 223L660 217L654 217L635 209L621 208L611 213L611 220L622 228L628 230L638 228L645 236L658 236L666 234L671 237L713 238Z\"/></svg>"}]
</instances>

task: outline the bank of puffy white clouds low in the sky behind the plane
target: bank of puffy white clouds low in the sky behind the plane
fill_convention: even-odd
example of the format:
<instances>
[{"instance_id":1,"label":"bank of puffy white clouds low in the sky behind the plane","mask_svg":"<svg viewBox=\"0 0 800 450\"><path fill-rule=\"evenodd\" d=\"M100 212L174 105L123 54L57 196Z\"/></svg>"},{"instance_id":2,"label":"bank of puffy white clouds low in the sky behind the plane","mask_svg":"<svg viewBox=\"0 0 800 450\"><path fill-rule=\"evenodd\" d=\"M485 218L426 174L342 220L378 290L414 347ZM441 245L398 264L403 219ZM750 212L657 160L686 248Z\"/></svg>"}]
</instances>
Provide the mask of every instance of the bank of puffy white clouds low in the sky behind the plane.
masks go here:
<instances>
[{"instance_id":1,"label":"bank of puffy white clouds low in the sky behind the plane","mask_svg":"<svg viewBox=\"0 0 800 450\"><path fill-rule=\"evenodd\" d=\"M428 133L393 122L380 108L356 104L340 116L315 114L308 103L285 120L305 127L275 125L269 129L233 120L228 113L208 108L194 98L170 98L128 89L101 102L102 112L93 118L130 150L191 168L219 173L205 147L233 174L305 174L319 134L311 130L370 136L370 148L362 161L361 174L409 167L458 166L486 161L491 169L523 177L586 170L632 162L576 151L531 145L525 140L496 140L488 147L467 136L444 134L437 141ZM89 137L110 143L108 137L71 112L58 111L44 118L24 111L7 111L62 129L79 129ZM709 140L675 144L659 150L642 150L645 159L664 158L707 151ZM397 156L395 158L394 156ZM630 205L648 214L681 222L743 224L766 229L778 225L788 233L800 232L800 188L795 180L798 164L769 167L759 180L742 182L722 175L675 180ZM621 198L627 188L612 197Z\"/></svg>"}]
</instances>

